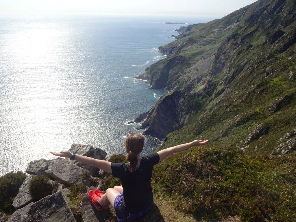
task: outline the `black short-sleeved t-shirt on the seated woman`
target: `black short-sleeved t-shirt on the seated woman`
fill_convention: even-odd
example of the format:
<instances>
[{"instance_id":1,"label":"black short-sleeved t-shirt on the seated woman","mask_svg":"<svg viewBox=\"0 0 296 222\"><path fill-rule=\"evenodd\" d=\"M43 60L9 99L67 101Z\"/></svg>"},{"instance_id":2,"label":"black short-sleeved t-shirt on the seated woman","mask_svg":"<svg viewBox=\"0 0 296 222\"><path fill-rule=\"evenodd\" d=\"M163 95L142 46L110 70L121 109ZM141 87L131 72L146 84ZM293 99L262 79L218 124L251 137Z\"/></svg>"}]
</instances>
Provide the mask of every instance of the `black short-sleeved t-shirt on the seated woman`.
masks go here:
<instances>
[{"instance_id":1,"label":"black short-sleeved t-shirt on the seated woman","mask_svg":"<svg viewBox=\"0 0 296 222\"><path fill-rule=\"evenodd\" d=\"M152 168L158 162L158 153L151 153L141 157L139 168L133 172L128 170L129 163L111 163L112 176L119 178L123 187L121 205L126 212L139 213L152 205Z\"/></svg>"}]
</instances>

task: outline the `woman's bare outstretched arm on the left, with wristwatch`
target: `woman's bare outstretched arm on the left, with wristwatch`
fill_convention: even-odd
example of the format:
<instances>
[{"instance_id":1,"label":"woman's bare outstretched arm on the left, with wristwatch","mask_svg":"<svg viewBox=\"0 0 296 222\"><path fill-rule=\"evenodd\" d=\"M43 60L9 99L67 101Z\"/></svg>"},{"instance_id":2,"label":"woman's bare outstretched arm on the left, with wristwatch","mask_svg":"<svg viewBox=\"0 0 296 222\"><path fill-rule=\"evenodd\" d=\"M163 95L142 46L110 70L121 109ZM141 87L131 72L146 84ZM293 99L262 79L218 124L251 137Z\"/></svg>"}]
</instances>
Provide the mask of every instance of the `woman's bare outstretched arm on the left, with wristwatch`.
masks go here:
<instances>
[{"instance_id":1,"label":"woman's bare outstretched arm on the left, with wristwatch","mask_svg":"<svg viewBox=\"0 0 296 222\"><path fill-rule=\"evenodd\" d=\"M58 157L67 157L70 158L72 153L69 151L61 151L59 153L50 152L51 154L58 156ZM99 168L100 170L104 170L107 173L112 173L111 169L111 162L106 160L97 160L91 157L86 157L83 155L76 154L75 160L84 163L87 165L95 166L96 168Z\"/></svg>"}]
</instances>

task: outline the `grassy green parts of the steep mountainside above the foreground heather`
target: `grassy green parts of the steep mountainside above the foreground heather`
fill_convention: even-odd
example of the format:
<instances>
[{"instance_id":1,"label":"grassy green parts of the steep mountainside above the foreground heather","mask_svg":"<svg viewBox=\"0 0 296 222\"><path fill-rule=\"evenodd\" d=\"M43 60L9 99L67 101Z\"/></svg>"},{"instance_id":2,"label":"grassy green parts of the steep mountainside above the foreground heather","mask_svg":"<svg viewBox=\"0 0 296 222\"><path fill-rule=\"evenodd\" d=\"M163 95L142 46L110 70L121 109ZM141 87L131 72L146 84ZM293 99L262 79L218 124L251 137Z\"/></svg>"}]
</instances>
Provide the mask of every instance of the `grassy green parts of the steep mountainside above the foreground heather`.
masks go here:
<instances>
[{"instance_id":1,"label":"grassy green parts of the steep mountainside above the foreground heather","mask_svg":"<svg viewBox=\"0 0 296 222\"><path fill-rule=\"evenodd\" d=\"M208 56L205 52L212 53L217 48L217 54L228 53L228 55L221 73L216 73L206 80L206 85L213 87L210 94L205 94L204 88L200 84L197 84L192 90L192 93L199 92L201 94L197 98L197 101L201 101L201 106L193 110L186 126L167 136L162 148L193 139L208 138L211 140L211 145L229 146L235 143L237 147L245 149L250 154L271 154L275 152L274 149L278 145L279 139L295 129L296 45L294 44L286 51L279 53L276 48L282 46L281 42L266 43L268 35L279 28L285 34L291 31L296 25L295 20L284 26L281 24L281 20L277 20L276 17L273 18L274 21L271 20L269 23L264 23L264 20L263 23L254 24L250 19L259 16L257 19L260 21L262 8L270 11L275 10L273 8L276 6L270 3L271 1L258 1L202 29L196 28L194 30L192 28L190 36L165 46L180 47L175 54L170 55L167 59L174 56L187 56L192 63ZM293 4L288 1L285 7L285 11L281 11L282 14L293 10ZM235 21L239 19L240 22L235 28L226 28L225 30L225 27L236 24ZM182 43L188 39L200 40L200 36L204 41L212 35L211 33L215 33L213 30L217 30L218 27L224 28L225 31L214 35L215 44L182 46ZM254 30L256 31L245 38L242 43L239 42ZM234 33L239 35L238 39L231 39ZM228 41L225 40L227 38ZM284 41L288 40L284 38L282 42ZM247 47L249 44L252 45L251 48ZM199 54L201 51L203 53ZM178 75L175 89L182 90L188 84L187 70L187 67L184 67L183 74ZM283 96L289 99L272 112L270 110L272 104L276 104ZM260 139L257 138L250 143L245 143L250 133L259 124L266 128L266 133L260 135ZM287 139L284 142L286 141Z\"/></svg>"}]
</instances>

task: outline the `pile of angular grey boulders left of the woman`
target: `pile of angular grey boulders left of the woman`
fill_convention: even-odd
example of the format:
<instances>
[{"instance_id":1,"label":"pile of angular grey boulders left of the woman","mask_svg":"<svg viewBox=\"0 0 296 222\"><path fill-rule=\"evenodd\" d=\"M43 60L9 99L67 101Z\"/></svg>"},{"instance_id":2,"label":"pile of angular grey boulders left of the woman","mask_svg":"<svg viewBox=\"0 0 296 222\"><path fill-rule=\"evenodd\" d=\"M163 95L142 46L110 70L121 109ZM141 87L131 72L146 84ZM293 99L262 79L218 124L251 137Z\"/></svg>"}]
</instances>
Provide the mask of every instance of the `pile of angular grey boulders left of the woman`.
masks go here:
<instances>
[{"instance_id":1,"label":"pile of angular grey boulders left of the woman","mask_svg":"<svg viewBox=\"0 0 296 222\"><path fill-rule=\"evenodd\" d=\"M90 146L81 144L72 144L70 152L76 152L81 155L93 157L96 159L104 159L106 152ZM108 160L108 158L107 158ZM114 215L109 209L98 211L91 204L88 197L88 191L94 190L98 184L102 183L99 178L94 178L91 173L94 173L92 168L86 168L86 165L77 164L77 161L63 159L58 157L54 160L36 160L28 164L26 173L27 176L19 189L19 193L13 201L13 206L17 209L9 218L9 222L31 222L31 221L49 221L49 222L96 222L96 221L111 221ZM46 166L46 167L44 167ZM42 169L42 170L41 170ZM98 170L98 169L97 169ZM54 194L48 195L41 200L36 200L30 192L30 180L37 175L44 175L55 181L49 180L52 186L57 186ZM99 172L95 172L96 176L101 176ZM109 174L110 175L110 174ZM103 175L107 177L106 173ZM102 176L102 177L103 177ZM101 177L101 178L102 178ZM67 194L74 196L73 189L77 189L85 184L85 191L78 192L78 197L70 200ZM75 187L72 189L69 186ZM65 188L68 186L69 190ZM42 191L42 188L40 189ZM83 197L83 198L82 198ZM78 206L77 206L78 202ZM79 205L80 203L80 205ZM2 215L2 214L1 214ZM6 221L1 218L1 221Z\"/></svg>"}]
</instances>

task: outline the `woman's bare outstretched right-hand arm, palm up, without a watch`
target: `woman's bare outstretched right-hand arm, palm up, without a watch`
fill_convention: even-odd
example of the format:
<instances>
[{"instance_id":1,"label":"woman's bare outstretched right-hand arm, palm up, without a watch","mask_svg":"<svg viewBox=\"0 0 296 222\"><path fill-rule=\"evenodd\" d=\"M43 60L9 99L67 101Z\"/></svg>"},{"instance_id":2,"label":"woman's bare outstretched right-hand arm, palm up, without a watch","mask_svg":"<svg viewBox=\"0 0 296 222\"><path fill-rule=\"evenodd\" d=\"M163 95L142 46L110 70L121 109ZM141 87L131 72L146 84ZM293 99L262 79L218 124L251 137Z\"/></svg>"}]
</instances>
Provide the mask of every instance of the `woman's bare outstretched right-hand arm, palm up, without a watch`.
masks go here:
<instances>
[{"instance_id":1,"label":"woman's bare outstretched right-hand arm, palm up, without a watch","mask_svg":"<svg viewBox=\"0 0 296 222\"><path fill-rule=\"evenodd\" d=\"M194 146L201 146L203 144L206 144L209 140L194 140L190 143L185 143L185 144L180 144L174 147L170 147L170 148L166 148L163 150L158 151L158 155L159 155L159 162L165 158L167 158L169 155L173 154L173 153L178 153L181 152L183 150L189 149L190 147L194 147Z\"/></svg>"}]
</instances>

